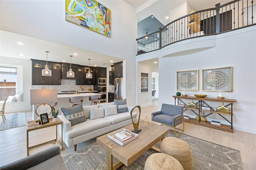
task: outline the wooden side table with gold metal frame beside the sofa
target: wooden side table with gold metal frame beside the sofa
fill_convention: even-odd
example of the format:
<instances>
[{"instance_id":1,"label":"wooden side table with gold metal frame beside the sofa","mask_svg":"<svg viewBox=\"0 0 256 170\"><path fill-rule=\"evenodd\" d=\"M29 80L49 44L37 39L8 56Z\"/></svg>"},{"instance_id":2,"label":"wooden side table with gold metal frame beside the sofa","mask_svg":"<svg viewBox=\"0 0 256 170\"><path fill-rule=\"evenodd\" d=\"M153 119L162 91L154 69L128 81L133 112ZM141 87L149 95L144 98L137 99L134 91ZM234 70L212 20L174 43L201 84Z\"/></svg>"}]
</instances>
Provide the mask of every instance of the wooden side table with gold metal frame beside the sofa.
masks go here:
<instances>
[{"instance_id":1,"label":"wooden side table with gold metal frame beside the sofa","mask_svg":"<svg viewBox=\"0 0 256 170\"><path fill-rule=\"evenodd\" d=\"M62 136L63 136L63 122L58 118L58 121L52 121L52 119L49 120L49 123L45 123L43 125L39 125L38 122L36 121L28 121L28 124L27 124L27 156L29 156L29 149L32 149L34 147L38 147L40 145L44 145L44 144L47 144L49 143L50 141L56 141L58 140L58 125L61 125L61 143L60 141L58 141L57 143L61 146L60 150L63 149L63 140L62 140ZM56 126L56 139L53 139L53 140L50 140L50 141L47 141L47 142L44 142L44 143L40 143L38 145L34 145L34 146L31 146L29 147L29 143L28 143L28 132L30 131L35 131L35 130L38 130L38 129L43 129L43 128L46 128L46 127L52 127L52 126Z\"/></svg>"}]
</instances>

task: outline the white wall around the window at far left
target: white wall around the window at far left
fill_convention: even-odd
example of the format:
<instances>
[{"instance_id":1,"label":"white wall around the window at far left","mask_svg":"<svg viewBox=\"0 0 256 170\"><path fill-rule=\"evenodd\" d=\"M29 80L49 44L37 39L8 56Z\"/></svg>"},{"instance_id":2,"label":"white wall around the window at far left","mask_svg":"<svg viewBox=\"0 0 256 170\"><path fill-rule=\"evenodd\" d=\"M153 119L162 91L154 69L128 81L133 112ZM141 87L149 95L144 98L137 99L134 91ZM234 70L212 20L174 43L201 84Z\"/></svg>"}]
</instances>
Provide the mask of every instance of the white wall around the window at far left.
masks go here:
<instances>
[{"instance_id":1,"label":"white wall around the window at far left","mask_svg":"<svg viewBox=\"0 0 256 170\"><path fill-rule=\"evenodd\" d=\"M5 113L14 113L20 111L31 110L30 105L30 85L32 81L31 61L24 59L16 59L10 57L0 56L0 63L12 66L18 66L17 68L17 88L16 93L23 93L22 102L6 103ZM21 86L20 86L21 83ZM21 87L21 88L20 88ZM2 108L2 104L0 106Z\"/></svg>"}]
</instances>

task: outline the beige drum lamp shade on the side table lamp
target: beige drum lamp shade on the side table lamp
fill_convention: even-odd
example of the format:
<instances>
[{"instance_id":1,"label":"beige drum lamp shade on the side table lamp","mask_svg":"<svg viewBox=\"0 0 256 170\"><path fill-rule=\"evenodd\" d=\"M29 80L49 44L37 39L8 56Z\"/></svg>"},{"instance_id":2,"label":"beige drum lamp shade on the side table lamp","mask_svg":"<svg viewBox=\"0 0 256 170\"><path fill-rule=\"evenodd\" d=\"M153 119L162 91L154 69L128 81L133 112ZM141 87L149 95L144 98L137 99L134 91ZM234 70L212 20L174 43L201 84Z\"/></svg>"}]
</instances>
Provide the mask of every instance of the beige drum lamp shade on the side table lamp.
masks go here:
<instances>
[{"instance_id":1,"label":"beige drum lamp shade on the side table lamp","mask_svg":"<svg viewBox=\"0 0 256 170\"><path fill-rule=\"evenodd\" d=\"M58 102L58 90L30 89L30 105Z\"/></svg>"}]
</instances>

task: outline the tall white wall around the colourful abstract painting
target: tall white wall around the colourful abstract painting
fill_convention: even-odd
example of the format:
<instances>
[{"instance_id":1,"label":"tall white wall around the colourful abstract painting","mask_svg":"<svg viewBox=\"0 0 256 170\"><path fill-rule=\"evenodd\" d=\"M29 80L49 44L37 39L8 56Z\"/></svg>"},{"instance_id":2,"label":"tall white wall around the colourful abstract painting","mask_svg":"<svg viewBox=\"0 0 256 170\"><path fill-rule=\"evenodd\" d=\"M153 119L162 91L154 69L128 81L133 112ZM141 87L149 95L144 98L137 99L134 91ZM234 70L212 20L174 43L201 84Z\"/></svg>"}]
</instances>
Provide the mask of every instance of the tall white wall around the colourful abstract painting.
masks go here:
<instances>
[{"instance_id":1,"label":"tall white wall around the colourful abstract painting","mask_svg":"<svg viewBox=\"0 0 256 170\"><path fill-rule=\"evenodd\" d=\"M65 0L2 0L0 29L126 60L124 72L128 74L125 76L125 86L127 84L132 86L125 88L125 94L128 105L133 106L135 69L131 68L135 67L136 55L135 8L124 0L98 0L111 10L111 38L109 38L66 21L65 2ZM12 22L13 18L15 22Z\"/></svg>"}]
</instances>

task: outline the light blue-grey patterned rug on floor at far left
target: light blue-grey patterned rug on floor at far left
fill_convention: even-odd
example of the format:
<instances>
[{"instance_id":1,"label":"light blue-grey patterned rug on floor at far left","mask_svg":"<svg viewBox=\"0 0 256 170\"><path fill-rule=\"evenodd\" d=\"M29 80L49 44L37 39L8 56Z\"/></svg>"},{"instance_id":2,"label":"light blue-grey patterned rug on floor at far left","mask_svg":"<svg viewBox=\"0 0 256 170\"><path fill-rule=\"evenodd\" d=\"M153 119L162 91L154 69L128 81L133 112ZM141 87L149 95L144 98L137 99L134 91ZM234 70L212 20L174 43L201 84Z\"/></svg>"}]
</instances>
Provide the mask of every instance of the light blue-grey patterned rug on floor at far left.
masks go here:
<instances>
[{"instance_id":1,"label":"light blue-grey patterned rug on floor at far left","mask_svg":"<svg viewBox=\"0 0 256 170\"><path fill-rule=\"evenodd\" d=\"M0 131L27 125L25 112L5 114L5 118L6 121L4 123L2 116L0 116Z\"/></svg>"}]
</instances>

